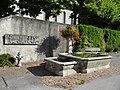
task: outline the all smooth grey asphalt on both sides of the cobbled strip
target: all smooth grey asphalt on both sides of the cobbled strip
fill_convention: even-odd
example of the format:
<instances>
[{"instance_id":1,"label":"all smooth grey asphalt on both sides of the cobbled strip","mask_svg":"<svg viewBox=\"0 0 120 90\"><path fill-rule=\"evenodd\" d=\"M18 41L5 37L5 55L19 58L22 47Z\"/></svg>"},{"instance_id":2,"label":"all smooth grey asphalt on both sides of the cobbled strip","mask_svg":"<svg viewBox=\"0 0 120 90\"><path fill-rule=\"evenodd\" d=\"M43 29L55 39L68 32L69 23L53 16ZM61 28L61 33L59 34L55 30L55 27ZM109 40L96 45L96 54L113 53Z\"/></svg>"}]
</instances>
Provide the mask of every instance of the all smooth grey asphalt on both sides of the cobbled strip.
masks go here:
<instances>
[{"instance_id":1,"label":"all smooth grey asphalt on both sides of the cobbled strip","mask_svg":"<svg viewBox=\"0 0 120 90\"><path fill-rule=\"evenodd\" d=\"M120 54L113 54L112 65L120 65ZM33 74L0 76L0 90L64 90L46 86ZM95 79L72 90L120 90L120 72Z\"/></svg>"}]
</instances>

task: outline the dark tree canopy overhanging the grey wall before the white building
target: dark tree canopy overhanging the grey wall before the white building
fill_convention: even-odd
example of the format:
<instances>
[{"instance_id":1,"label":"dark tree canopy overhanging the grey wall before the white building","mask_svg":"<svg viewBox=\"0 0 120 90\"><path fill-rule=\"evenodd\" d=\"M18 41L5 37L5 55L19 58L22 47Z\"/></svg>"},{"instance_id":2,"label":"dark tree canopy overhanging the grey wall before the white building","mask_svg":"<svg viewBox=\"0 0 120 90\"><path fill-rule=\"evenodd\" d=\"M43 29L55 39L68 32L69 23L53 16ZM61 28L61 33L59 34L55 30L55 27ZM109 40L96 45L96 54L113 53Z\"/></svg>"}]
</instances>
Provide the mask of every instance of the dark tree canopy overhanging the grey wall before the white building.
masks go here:
<instances>
[{"instance_id":1,"label":"dark tree canopy overhanging the grey wall before the white building","mask_svg":"<svg viewBox=\"0 0 120 90\"><path fill-rule=\"evenodd\" d=\"M57 16L62 9L58 0L19 0L18 6L22 15L29 14L32 17L36 17L41 14L41 11L44 11L45 20L48 20L50 16Z\"/></svg>"}]
</instances>

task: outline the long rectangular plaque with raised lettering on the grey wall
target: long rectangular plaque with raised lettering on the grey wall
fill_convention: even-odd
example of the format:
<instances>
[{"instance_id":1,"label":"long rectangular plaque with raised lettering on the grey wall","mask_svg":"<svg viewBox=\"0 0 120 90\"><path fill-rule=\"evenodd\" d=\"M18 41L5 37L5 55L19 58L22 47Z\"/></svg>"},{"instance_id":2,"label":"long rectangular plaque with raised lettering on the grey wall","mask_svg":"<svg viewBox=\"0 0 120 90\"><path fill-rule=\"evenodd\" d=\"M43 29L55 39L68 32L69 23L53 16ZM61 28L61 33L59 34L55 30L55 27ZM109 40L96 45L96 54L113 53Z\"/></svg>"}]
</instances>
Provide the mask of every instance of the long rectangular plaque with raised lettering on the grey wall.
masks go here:
<instances>
[{"instance_id":1,"label":"long rectangular plaque with raised lettering on the grey wall","mask_svg":"<svg viewBox=\"0 0 120 90\"><path fill-rule=\"evenodd\" d=\"M39 36L27 36L18 34L5 34L5 45L37 45L39 44Z\"/></svg>"}]
</instances>

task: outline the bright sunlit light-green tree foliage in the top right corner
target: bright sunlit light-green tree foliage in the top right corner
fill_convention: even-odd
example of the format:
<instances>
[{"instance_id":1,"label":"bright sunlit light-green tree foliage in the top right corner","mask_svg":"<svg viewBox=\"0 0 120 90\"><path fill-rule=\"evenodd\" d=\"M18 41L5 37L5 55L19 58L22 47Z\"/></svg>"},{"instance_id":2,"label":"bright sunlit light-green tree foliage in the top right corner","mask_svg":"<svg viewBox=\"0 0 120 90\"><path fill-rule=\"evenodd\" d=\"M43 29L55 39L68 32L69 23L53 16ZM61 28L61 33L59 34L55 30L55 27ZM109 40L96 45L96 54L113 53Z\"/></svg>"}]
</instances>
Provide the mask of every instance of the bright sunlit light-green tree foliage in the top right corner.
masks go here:
<instances>
[{"instance_id":1,"label":"bright sunlit light-green tree foliage in the top right corner","mask_svg":"<svg viewBox=\"0 0 120 90\"><path fill-rule=\"evenodd\" d=\"M112 0L95 0L86 6L94 10L98 16L110 19L111 22L120 20L120 5Z\"/></svg>"}]
</instances>

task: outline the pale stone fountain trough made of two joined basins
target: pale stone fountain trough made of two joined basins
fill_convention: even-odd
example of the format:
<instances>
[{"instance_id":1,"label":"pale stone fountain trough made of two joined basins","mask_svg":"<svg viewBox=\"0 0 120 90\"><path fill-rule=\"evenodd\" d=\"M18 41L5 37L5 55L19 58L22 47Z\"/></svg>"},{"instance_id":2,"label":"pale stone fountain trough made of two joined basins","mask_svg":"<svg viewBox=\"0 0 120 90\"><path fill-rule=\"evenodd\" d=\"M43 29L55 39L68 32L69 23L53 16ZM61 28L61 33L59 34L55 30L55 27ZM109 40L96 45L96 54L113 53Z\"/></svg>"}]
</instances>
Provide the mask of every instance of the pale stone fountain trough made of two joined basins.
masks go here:
<instances>
[{"instance_id":1,"label":"pale stone fountain trough made of two joined basins","mask_svg":"<svg viewBox=\"0 0 120 90\"><path fill-rule=\"evenodd\" d=\"M75 73L91 73L110 67L112 56L100 54L98 57L81 58L68 53L58 57L45 58L46 69L56 75L67 76Z\"/></svg>"}]
</instances>

